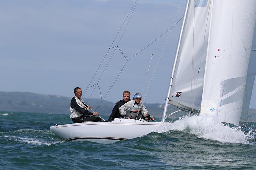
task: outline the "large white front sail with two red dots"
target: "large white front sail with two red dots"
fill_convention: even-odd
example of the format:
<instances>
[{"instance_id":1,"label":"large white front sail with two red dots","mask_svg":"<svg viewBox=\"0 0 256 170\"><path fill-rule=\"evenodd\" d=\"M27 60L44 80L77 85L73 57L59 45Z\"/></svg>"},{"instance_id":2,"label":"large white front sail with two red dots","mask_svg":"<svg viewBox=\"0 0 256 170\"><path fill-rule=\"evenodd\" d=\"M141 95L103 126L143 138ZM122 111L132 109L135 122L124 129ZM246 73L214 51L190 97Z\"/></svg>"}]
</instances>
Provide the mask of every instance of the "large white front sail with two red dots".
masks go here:
<instances>
[{"instance_id":1,"label":"large white front sail with two red dots","mask_svg":"<svg viewBox=\"0 0 256 170\"><path fill-rule=\"evenodd\" d=\"M255 0L212 1L201 115L239 124L255 18Z\"/></svg>"}]
</instances>

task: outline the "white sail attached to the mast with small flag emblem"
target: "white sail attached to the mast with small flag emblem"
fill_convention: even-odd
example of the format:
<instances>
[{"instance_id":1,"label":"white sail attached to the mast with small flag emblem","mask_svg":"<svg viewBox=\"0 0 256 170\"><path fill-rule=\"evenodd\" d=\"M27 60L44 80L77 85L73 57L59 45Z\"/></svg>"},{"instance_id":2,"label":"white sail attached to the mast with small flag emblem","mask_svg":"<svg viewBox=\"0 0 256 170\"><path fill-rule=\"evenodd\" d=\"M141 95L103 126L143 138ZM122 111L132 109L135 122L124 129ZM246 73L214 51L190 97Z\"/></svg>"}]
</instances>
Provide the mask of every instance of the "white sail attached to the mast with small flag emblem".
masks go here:
<instances>
[{"instance_id":1,"label":"white sail attached to the mast with small flag emblem","mask_svg":"<svg viewBox=\"0 0 256 170\"><path fill-rule=\"evenodd\" d=\"M201 107L209 17L210 0L189 2L169 104L191 111Z\"/></svg>"}]
</instances>

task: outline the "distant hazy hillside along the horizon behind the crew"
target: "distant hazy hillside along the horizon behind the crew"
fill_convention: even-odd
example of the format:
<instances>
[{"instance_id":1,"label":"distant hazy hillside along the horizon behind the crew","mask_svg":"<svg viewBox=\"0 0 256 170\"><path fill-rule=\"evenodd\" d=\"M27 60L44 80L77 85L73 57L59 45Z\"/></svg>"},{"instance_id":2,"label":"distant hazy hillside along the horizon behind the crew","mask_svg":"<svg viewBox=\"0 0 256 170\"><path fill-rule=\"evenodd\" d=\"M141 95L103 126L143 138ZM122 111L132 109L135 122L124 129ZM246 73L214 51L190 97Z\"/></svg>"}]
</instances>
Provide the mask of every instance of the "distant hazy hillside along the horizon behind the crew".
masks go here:
<instances>
[{"instance_id":1,"label":"distant hazy hillside along the horizon behind the crew","mask_svg":"<svg viewBox=\"0 0 256 170\"><path fill-rule=\"evenodd\" d=\"M0 111L68 114L70 113L70 100L71 97L59 95L43 95L30 92L0 92ZM84 101L87 101L87 99L84 98ZM101 104L100 102L100 99L90 99L87 104L101 115L110 115L117 101L115 101L115 103L103 101ZM99 104L100 106L96 110ZM144 103L144 105L147 107L151 116L162 116L164 104ZM177 108L169 106L167 114L175 110L177 110ZM172 115L172 117L179 117L185 114L187 114L187 112L179 112L178 114ZM256 109L249 109L248 122L256 122Z\"/></svg>"}]
</instances>

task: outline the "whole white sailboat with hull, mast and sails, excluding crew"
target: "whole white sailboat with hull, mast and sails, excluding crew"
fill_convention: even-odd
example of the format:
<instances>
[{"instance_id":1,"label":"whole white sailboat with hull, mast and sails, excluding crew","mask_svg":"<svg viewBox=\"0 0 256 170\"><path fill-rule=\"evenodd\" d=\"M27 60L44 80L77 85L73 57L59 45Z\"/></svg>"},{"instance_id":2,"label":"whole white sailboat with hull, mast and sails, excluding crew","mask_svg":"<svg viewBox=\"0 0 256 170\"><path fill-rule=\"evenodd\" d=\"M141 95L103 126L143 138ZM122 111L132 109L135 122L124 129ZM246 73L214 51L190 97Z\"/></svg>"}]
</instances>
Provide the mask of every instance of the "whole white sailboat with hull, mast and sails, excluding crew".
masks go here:
<instances>
[{"instance_id":1,"label":"whole white sailboat with hull, mast and sails, excluding crew","mask_svg":"<svg viewBox=\"0 0 256 170\"><path fill-rule=\"evenodd\" d=\"M237 125L255 78L249 63L255 19L255 0L188 0L161 122L116 118L51 126L52 132L67 141L132 139L161 128L168 104Z\"/></svg>"}]
</instances>

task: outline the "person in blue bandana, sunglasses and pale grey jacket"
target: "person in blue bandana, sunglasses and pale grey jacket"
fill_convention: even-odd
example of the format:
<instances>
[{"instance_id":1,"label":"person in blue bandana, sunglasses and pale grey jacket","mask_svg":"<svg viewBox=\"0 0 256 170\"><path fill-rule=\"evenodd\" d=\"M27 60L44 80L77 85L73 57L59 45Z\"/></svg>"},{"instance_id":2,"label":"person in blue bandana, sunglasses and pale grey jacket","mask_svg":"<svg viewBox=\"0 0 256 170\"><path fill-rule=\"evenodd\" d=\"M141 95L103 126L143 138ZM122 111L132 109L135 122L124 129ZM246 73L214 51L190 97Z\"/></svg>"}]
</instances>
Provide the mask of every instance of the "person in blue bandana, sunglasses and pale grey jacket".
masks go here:
<instances>
[{"instance_id":1,"label":"person in blue bandana, sunglasses and pale grey jacket","mask_svg":"<svg viewBox=\"0 0 256 170\"><path fill-rule=\"evenodd\" d=\"M128 101L125 103L123 106L119 108L120 114L126 118L126 119L136 119L137 114L139 118L145 119L146 122L149 121L149 115L148 115L148 110L146 107L143 105L141 102L142 95L140 93L136 93L133 97L133 100ZM140 108L140 110L139 110Z\"/></svg>"}]
</instances>

